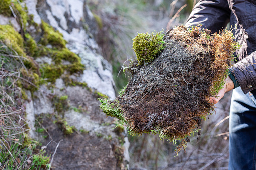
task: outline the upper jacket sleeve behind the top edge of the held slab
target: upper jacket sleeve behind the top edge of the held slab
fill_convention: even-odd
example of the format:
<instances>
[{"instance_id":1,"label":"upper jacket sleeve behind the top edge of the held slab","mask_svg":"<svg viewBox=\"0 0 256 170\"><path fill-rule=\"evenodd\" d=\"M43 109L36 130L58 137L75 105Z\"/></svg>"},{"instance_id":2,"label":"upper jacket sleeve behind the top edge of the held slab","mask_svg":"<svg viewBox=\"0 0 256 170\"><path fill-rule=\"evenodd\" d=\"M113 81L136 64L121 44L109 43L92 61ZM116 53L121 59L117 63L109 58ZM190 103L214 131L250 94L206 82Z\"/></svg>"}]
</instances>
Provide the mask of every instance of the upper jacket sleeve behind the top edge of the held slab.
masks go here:
<instances>
[{"instance_id":1,"label":"upper jacket sleeve behind the top edge of the held slab","mask_svg":"<svg viewBox=\"0 0 256 170\"><path fill-rule=\"evenodd\" d=\"M225 28L230 19L231 10L227 0L200 0L193 8L186 27L202 24L212 34Z\"/></svg>"}]
</instances>

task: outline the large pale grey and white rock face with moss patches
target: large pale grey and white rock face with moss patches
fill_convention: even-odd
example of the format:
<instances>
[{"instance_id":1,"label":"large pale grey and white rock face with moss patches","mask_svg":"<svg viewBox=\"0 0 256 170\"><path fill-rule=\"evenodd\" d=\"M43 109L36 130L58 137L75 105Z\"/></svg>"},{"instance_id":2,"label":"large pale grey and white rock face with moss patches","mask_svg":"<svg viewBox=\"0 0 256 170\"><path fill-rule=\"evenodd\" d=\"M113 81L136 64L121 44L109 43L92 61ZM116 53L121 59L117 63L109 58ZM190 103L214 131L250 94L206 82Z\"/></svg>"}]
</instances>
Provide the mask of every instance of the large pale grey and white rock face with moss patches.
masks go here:
<instances>
[{"instance_id":1,"label":"large pale grey and white rock face with moss patches","mask_svg":"<svg viewBox=\"0 0 256 170\"><path fill-rule=\"evenodd\" d=\"M86 66L80 76L63 74L55 83L40 86L33 95L26 92L30 99L26 102L30 136L40 139L43 146L51 141L44 148L48 155L53 155L57 143L62 140L53 159L55 169L129 168L126 131L119 127L114 129L117 119L106 118L99 109L99 96L93 92L101 92L112 99L116 94L112 66L100 55L94 39L97 23L85 1L26 0L25 3L29 6L28 13L34 15L34 21L40 24L42 19L62 33L66 47ZM33 32L34 28L28 29ZM48 56L39 56L36 61L38 64L54 64ZM67 85L66 78L87 83L87 86ZM36 119L48 133L36 132L37 128L42 128L38 124L34 127ZM64 126L70 127L73 133L65 134Z\"/></svg>"}]
</instances>

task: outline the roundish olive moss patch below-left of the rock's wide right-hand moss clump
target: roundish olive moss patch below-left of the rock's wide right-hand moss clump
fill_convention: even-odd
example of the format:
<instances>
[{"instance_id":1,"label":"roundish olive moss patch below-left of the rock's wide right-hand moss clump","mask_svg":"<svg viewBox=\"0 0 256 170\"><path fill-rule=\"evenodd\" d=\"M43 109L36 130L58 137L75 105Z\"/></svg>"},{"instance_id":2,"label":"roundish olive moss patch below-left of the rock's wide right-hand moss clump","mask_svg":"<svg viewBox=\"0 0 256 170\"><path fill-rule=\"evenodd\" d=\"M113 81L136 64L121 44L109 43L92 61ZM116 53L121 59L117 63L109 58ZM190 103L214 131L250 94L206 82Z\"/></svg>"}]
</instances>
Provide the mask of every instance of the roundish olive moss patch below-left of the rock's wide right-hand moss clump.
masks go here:
<instances>
[{"instance_id":1,"label":"roundish olive moss patch below-left of the rock's wide right-hand moss clump","mask_svg":"<svg viewBox=\"0 0 256 170\"><path fill-rule=\"evenodd\" d=\"M58 79L63 73L64 69L62 65L49 65L44 64L42 65L41 74L44 79L46 79L47 82L55 83L56 79Z\"/></svg>"}]
</instances>

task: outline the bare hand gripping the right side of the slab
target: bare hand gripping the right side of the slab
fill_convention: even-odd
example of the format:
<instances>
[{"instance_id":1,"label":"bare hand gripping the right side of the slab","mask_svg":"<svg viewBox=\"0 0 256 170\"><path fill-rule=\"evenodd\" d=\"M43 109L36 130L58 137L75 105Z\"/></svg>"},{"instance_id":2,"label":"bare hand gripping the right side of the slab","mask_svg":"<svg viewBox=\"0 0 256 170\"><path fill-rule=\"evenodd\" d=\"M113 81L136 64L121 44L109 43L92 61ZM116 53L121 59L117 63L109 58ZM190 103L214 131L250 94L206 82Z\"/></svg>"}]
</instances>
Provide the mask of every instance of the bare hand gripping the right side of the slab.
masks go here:
<instances>
[{"instance_id":1,"label":"bare hand gripping the right side of the slab","mask_svg":"<svg viewBox=\"0 0 256 170\"><path fill-rule=\"evenodd\" d=\"M226 82L222 86L222 89L219 91L218 97L216 97L216 98L215 97L210 97L210 99L208 101L209 103L214 103L214 104L218 103L226 92L234 89L235 86L234 86L233 81L230 79L230 77L227 76L225 80L226 80Z\"/></svg>"}]
</instances>

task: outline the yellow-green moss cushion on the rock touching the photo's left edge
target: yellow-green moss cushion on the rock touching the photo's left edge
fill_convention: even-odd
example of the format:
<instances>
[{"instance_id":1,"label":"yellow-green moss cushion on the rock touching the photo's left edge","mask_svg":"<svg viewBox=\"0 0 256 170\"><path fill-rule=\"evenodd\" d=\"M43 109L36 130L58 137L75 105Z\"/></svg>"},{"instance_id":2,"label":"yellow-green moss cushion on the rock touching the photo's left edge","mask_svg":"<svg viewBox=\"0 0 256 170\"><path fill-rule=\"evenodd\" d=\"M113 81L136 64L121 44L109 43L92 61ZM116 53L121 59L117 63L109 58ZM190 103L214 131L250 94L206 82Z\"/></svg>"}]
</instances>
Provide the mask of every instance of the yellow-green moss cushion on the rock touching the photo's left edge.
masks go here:
<instances>
[{"instance_id":1,"label":"yellow-green moss cushion on the rock touching the photo's left edge","mask_svg":"<svg viewBox=\"0 0 256 170\"><path fill-rule=\"evenodd\" d=\"M2 40L10 49L17 52L18 55L26 56L23 50L23 38L11 25L0 25L0 40Z\"/></svg>"}]
</instances>

